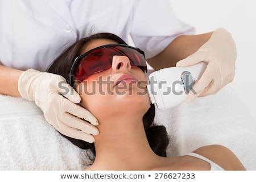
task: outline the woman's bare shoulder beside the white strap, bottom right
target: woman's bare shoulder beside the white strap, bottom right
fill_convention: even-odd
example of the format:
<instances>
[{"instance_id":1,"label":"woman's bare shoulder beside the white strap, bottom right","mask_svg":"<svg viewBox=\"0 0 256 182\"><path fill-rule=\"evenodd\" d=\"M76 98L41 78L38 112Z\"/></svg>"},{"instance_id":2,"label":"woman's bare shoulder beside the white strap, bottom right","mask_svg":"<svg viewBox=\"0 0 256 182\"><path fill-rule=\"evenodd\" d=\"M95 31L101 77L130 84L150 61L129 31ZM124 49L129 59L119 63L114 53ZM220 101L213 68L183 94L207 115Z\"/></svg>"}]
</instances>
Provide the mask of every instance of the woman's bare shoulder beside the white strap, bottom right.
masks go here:
<instances>
[{"instance_id":1,"label":"woman's bare shoulder beside the white strap, bottom right","mask_svg":"<svg viewBox=\"0 0 256 182\"><path fill-rule=\"evenodd\" d=\"M227 147L214 144L210 146L197 148L197 150L193 152L212 160L212 162L218 164L225 170L245 170L245 167L237 158L237 156Z\"/></svg>"}]
</instances>

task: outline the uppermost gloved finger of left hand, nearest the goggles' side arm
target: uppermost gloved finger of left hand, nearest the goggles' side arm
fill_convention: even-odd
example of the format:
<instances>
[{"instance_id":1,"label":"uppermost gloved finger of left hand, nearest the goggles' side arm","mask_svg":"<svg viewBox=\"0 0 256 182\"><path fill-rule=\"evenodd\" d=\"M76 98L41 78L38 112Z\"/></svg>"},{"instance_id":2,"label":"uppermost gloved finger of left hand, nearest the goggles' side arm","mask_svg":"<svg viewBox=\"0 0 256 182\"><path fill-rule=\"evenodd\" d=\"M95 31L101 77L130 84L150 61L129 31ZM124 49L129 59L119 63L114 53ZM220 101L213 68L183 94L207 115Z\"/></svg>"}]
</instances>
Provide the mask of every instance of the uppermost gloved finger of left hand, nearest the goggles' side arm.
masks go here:
<instances>
[{"instance_id":1,"label":"uppermost gloved finger of left hand, nearest the goggles' side arm","mask_svg":"<svg viewBox=\"0 0 256 182\"><path fill-rule=\"evenodd\" d=\"M76 92L75 89L70 86L67 81L61 79L57 86L58 92L68 98L69 101L78 104L81 101L81 97L79 96L79 93Z\"/></svg>"}]
</instances>

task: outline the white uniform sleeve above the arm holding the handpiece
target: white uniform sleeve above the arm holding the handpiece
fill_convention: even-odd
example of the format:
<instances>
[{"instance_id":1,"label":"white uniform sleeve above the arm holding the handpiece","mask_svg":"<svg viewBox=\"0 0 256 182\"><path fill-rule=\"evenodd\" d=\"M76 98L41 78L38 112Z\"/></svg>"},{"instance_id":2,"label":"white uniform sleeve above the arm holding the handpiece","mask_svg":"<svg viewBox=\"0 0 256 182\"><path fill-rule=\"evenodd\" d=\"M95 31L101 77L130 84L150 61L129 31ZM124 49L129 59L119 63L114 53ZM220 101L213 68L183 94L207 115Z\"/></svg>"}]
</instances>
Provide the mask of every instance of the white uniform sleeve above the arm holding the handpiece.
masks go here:
<instances>
[{"instance_id":1,"label":"white uniform sleeve above the arm holding the handpiece","mask_svg":"<svg viewBox=\"0 0 256 182\"><path fill-rule=\"evenodd\" d=\"M135 1L131 38L145 52L146 59L158 55L179 35L195 34L195 28L181 22L170 0Z\"/></svg>"}]
</instances>

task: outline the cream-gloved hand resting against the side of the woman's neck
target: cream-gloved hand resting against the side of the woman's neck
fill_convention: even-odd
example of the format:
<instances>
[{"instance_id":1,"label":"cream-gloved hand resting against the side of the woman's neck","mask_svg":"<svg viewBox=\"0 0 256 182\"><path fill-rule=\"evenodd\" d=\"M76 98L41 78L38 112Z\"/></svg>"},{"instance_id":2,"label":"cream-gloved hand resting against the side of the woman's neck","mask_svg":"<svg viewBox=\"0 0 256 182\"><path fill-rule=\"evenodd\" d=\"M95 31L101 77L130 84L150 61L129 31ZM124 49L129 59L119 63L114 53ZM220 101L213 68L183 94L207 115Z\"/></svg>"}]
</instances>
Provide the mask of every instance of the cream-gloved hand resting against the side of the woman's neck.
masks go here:
<instances>
[{"instance_id":1,"label":"cream-gloved hand resting against the side of the woman's neck","mask_svg":"<svg viewBox=\"0 0 256 182\"><path fill-rule=\"evenodd\" d=\"M61 134L94 142L93 135L98 134L98 129L93 125L98 121L88 110L75 104L81 98L64 77L28 69L19 77L18 90L23 98L35 101L46 120Z\"/></svg>"}]
</instances>

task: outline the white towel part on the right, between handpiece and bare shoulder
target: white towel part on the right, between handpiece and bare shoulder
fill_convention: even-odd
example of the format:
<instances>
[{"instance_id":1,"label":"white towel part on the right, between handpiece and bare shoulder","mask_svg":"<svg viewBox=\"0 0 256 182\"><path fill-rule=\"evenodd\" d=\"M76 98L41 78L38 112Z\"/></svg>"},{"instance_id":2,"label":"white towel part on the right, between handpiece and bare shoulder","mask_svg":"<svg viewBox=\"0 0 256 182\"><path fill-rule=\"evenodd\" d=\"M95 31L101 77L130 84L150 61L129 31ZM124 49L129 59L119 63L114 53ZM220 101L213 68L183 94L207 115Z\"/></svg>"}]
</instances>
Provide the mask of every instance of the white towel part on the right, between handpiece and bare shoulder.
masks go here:
<instances>
[{"instance_id":1,"label":"white towel part on the right, between handpiece and bare shoulder","mask_svg":"<svg viewBox=\"0 0 256 182\"><path fill-rule=\"evenodd\" d=\"M230 86L191 103L158 110L155 120L167 126L171 137L169 156L222 144L238 156L247 170L256 170L256 121Z\"/></svg>"}]
</instances>

